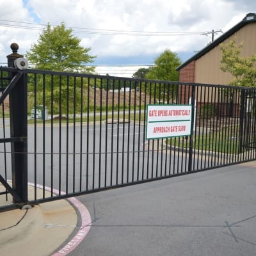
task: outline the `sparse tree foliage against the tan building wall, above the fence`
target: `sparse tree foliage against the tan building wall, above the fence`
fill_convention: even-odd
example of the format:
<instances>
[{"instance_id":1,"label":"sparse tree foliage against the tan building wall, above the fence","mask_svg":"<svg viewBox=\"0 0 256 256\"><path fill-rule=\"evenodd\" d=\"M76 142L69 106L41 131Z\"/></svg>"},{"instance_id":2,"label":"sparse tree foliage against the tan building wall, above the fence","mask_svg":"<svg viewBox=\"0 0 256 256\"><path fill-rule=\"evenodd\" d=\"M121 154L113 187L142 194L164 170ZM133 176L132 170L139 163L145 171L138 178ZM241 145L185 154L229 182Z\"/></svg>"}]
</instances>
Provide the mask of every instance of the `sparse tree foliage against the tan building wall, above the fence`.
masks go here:
<instances>
[{"instance_id":1,"label":"sparse tree foliage against the tan building wall, above the fence","mask_svg":"<svg viewBox=\"0 0 256 256\"><path fill-rule=\"evenodd\" d=\"M237 45L234 40L221 44L221 70L234 76L230 85L256 86L256 54L251 57L241 57L243 42Z\"/></svg>"}]
</instances>

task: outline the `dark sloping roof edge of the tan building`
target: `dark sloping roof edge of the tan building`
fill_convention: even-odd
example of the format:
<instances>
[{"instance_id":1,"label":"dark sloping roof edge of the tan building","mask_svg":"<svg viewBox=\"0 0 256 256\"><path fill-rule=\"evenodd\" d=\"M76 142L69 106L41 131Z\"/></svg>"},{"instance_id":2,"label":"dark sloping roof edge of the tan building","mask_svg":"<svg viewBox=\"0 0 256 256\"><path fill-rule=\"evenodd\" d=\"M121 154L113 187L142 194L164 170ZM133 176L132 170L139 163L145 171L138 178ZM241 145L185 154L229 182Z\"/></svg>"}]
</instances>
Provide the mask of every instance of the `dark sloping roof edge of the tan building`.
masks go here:
<instances>
[{"instance_id":1,"label":"dark sloping roof edge of the tan building","mask_svg":"<svg viewBox=\"0 0 256 256\"><path fill-rule=\"evenodd\" d=\"M250 23L250 22L256 22L256 14L255 13L248 13L243 20L241 20L241 22L237 23L236 26L234 26L233 28L229 29L226 33L224 33L223 35L221 35L220 37L218 37L216 40L214 40L211 44L207 45L206 47L204 47L204 49L202 49L199 52L196 52L195 55L193 55L191 58L189 58L187 61L185 61L184 63L182 63L179 67L176 68L177 71L179 71L181 68L186 67L186 65L188 65L189 63L191 63L191 61L194 60L198 60L200 57L202 57L204 54L206 54L207 52L211 51L211 49L213 49L214 47L216 47L217 45L221 44L221 42L223 42L225 39L227 39L229 36L233 35L236 31L238 31L239 29L243 28L243 26L245 26L246 24Z\"/></svg>"}]
</instances>

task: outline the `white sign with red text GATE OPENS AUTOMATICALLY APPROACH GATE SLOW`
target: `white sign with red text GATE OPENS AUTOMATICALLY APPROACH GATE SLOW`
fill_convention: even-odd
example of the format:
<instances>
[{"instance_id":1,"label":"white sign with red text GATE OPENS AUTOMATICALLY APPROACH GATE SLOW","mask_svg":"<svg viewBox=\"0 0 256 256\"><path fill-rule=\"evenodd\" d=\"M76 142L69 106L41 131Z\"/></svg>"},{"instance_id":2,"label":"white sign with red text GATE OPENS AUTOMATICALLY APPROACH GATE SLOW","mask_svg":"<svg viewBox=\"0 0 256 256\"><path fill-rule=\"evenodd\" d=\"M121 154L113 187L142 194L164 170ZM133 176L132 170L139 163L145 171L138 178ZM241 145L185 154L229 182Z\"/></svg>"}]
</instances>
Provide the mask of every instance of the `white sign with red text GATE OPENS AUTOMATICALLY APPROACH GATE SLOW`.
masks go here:
<instances>
[{"instance_id":1,"label":"white sign with red text GATE OPENS AUTOMATICALLY APPROACH GATE SLOW","mask_svg":"<svg viewBox=\"0 0 256 256\"><path fill-rule=\"evenodd\" d=\"M189 136L192 105L148 105L147 140Z\"/></svg>"}]
</instances>

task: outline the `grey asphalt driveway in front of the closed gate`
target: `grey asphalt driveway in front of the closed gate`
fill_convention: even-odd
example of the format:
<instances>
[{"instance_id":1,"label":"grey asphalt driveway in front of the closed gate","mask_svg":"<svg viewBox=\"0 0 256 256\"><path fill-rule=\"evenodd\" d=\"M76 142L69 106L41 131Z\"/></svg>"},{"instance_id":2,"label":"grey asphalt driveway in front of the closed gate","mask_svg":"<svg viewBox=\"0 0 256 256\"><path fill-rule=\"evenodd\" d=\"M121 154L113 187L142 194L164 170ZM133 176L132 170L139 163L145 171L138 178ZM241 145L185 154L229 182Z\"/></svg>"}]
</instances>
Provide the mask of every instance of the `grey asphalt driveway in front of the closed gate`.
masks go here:
<instances>
[{"instance_id":1,"label":"grey asphalt driveway in front of the closed gate","mask_svg":"<svg viewBox=\"0 0 256 256\"><path fill-rule=\"evenodd\" d=\"M256 162L79 196L92 228L70 256L254 256Z\"/></svg>"}]
</instances>

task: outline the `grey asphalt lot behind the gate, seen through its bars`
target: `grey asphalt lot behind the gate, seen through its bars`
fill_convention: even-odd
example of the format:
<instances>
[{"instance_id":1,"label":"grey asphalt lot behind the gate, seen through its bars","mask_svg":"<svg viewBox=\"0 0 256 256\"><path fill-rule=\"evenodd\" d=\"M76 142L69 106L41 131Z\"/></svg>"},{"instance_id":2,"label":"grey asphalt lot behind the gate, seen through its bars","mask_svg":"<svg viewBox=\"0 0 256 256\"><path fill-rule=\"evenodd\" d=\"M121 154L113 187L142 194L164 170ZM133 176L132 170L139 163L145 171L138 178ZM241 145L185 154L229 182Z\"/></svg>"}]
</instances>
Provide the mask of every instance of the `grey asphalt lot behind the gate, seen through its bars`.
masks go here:
<instances>
[{"instance_id":1,"label":"grey asphalt lot behind the gate, seen through its bars","mask_svg":"<svg viewBox=\"0 0 256 256\"><path fill-rule=\"evenodd\" d=\"M154 147L161 144L149 145L142 125L29 126L29 182L72 193L188 169L188 152L173 156L165 146L163 152ZM6 151L10 152L10 143ZM10 170L10 154L7 157Z\"/></svg>"}]
</instances>

